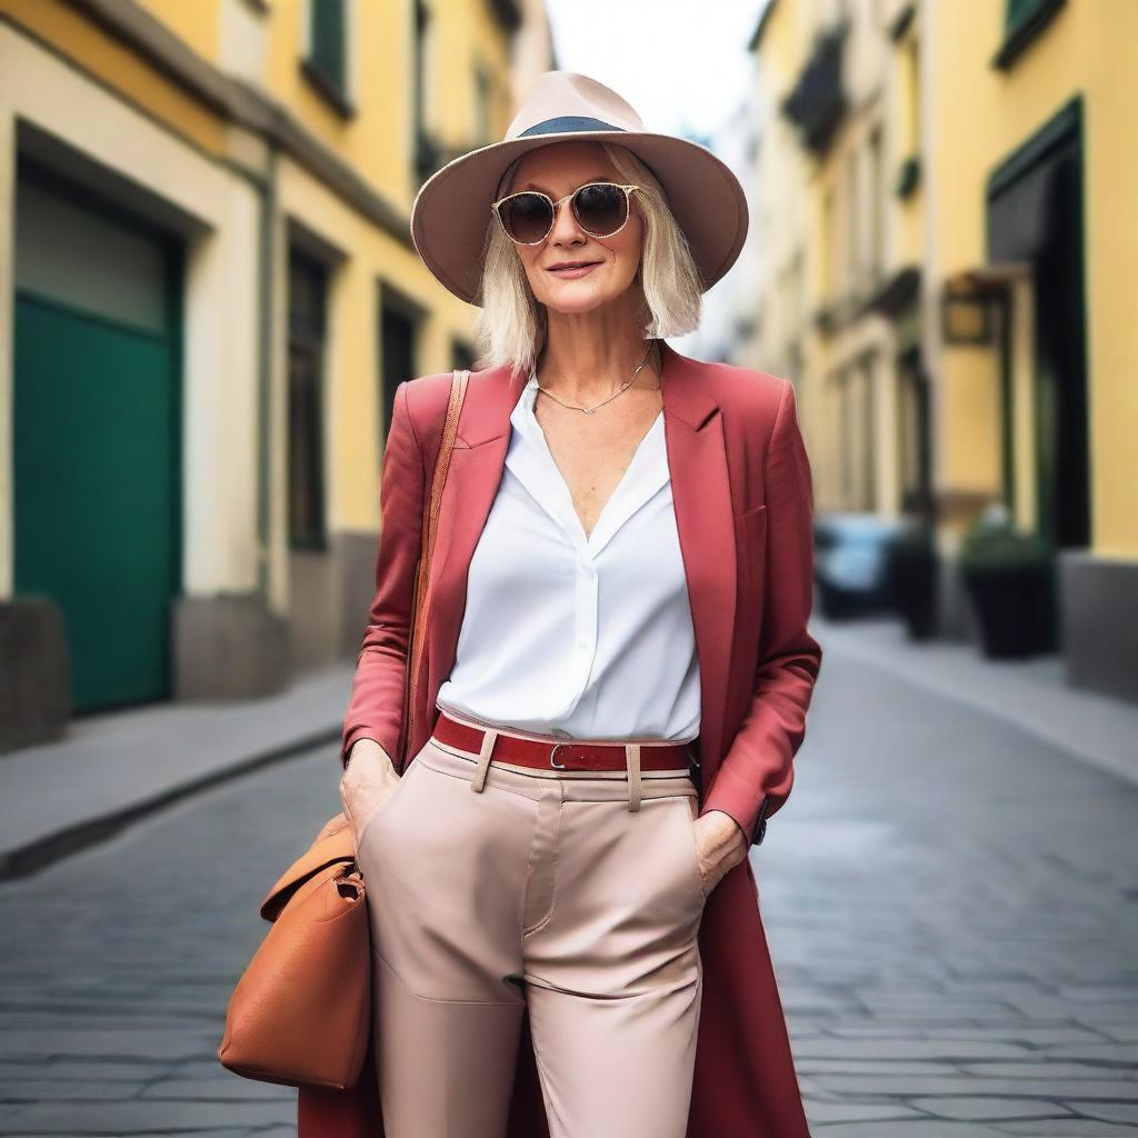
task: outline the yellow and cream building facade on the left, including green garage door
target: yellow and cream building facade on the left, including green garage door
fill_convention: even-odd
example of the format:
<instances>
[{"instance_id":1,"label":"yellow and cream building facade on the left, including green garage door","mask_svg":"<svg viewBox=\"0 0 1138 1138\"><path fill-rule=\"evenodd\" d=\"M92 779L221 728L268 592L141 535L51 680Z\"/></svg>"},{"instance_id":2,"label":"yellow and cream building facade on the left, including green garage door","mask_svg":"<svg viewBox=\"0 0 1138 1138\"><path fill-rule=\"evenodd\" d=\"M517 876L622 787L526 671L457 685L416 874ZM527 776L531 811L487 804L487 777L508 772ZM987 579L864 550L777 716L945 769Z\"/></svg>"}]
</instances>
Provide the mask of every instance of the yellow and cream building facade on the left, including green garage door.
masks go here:
<instances>
[{"instance_id":1,"label":"yellow and cream building facade on the left, including green garage door","mask_svg":"<svg viewBox=\"0 0 1138 1138\"><path fill-rule=\"evenodd\" d=\"M0 0L0 747L354 655L395 387L473 356L411 204L553 66L530 0Z\"/></svg>"}]
</instances>

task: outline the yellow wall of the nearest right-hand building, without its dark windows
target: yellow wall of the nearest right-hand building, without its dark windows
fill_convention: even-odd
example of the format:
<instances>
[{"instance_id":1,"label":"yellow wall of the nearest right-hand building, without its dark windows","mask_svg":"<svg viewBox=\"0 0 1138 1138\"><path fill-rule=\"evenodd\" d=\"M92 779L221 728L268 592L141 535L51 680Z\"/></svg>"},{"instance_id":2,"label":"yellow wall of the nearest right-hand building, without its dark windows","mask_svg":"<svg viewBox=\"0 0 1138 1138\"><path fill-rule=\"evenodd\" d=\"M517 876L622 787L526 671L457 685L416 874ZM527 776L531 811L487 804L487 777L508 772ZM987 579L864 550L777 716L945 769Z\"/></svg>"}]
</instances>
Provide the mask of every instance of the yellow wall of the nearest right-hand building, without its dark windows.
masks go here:
<instances>
[{"instance_id":1,"label":"yellow wall of the nearest right-hand building, without its dark windows","mask_svg":"<svg viewBox=\"0 0 1138 1138\"><path fill-rule=\"evenodd\" d=\"M1138 510L1128 436L1138 424L1138 389L1123 377L1138 366L1129 286L1138 269L1138 155L1125 139L1138 98L1132 65L1138 9L1115 0L1069 0L1008 72L989 66L1003 39L1000 5L926 3L924 19L937 47L927 125L938 199L926 254L933 279L983 263L983 191L990 171L1072 96L1082 94L1091 547L1132 558L1138 555ZM1015 434L1017 512L1028 526L1036 521L1029 344L1022 337L1017 352L1023 406ZM990 395L997 385L990 361L968 355L954 349L940 361L942 476L946 485L992 489L999 485L992 429L999 415Z\"/></svg>"}]
</instances>

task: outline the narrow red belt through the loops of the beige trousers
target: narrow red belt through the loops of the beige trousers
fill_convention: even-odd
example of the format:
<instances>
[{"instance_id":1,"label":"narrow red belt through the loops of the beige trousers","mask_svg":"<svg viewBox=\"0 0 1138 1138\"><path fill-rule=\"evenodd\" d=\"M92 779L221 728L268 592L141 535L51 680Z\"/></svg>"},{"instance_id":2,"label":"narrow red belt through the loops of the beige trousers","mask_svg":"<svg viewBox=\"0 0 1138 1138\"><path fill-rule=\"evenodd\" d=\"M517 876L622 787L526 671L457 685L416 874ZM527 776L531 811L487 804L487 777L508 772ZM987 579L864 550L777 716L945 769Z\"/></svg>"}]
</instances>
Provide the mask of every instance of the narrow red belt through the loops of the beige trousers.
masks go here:
<instances>
[{"instance_id":1,"label":"narrow red belt through the loops of the beige trousers","mask_svg":"<svg viewBox=\"0 0 1138 1138\"><path fill-rule=\"evenodd\" d=\"M439 710L434 739L460 751L481 752L486 728L452 719ZM682 770L698 766L691 743L642 743L641 770ZM541 770L626 770L624 743L591 743L583 740L522 739L498 728L490 759Z\"/></svg>"}]
</instances>

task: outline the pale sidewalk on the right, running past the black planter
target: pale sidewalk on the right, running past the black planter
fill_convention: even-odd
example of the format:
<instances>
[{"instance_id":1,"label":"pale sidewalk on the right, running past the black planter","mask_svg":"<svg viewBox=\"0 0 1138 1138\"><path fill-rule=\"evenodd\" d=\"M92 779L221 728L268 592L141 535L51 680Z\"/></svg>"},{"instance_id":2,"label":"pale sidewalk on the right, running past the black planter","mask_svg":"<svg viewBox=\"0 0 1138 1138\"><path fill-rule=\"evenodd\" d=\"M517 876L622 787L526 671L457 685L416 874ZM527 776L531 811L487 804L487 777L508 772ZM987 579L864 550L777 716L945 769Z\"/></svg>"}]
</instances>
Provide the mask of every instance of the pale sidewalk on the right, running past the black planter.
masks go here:
<instances>
[{"instance_id":1,"label":"pale sidewalk on the right, running past the black planter","mask_svg":"<svg viewBox=\"0 0 1138 1138\"><path fill-rule=\"evenodd\" d=\"M819 616L810 630L823 650L857 655L1138 782L1138 704L1067 686L1057 654L988 660L974 644L909 641L901 621L889 617L838 624Z\"/></svg>"}]
</instances>

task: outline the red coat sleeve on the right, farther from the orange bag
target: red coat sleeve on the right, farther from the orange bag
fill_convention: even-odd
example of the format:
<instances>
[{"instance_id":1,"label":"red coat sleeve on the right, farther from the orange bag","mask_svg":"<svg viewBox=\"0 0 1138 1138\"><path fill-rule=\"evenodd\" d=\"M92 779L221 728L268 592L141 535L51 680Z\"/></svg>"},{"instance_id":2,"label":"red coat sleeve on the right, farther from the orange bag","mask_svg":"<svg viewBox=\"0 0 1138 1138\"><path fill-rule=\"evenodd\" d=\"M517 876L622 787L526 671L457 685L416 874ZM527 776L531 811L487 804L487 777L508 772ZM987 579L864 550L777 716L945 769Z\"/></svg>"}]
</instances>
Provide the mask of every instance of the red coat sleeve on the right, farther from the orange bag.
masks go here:
<instances>
[{"instance_id":1,"label":"red coat sleeve on the right, farther from the orange bag","mask_svg":"<svg viewBox=\"0 0 1138 1138\"><path fill-rule=\"evenodd\" d=\"M766 456L766 589L753 694L702 813L724 810L758 846L786 801L822 666L807 632L814 600L814 487L794 385L784 380Z\"/></svg>"}]
</instances>

